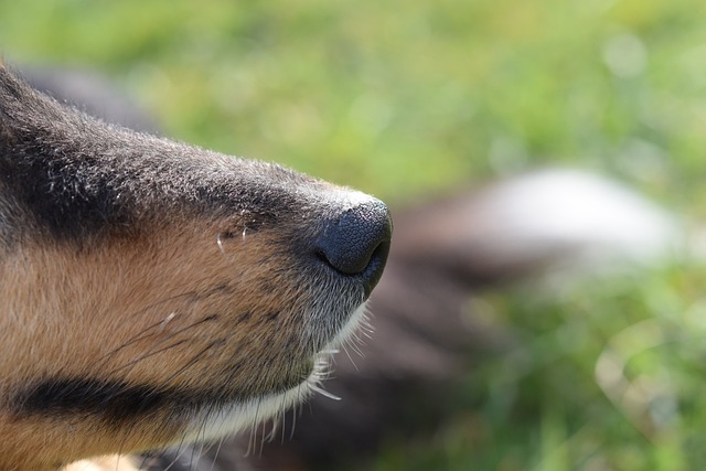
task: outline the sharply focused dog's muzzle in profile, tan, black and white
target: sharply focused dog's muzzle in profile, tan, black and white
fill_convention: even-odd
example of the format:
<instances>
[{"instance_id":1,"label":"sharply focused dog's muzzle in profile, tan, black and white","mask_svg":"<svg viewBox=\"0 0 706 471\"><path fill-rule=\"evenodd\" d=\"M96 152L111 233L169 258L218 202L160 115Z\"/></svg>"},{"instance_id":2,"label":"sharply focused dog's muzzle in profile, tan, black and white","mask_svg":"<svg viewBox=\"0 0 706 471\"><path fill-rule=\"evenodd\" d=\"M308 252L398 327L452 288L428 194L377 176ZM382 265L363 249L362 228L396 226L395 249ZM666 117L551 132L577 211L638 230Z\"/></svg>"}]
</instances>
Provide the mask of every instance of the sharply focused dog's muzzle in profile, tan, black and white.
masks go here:
<instances>
[{"instance_id":1,"label":"sharply focused dog's muzzle in profile, tan, black and white","mask_svg":"<svg viewBox=\"0 0 706 471\"><path fill-rule=\"evenodd\" d=\"M0 65L0 469L130 469L299 404L391 237L372 196L108 125Z\"/></svg>"}]
</instances>

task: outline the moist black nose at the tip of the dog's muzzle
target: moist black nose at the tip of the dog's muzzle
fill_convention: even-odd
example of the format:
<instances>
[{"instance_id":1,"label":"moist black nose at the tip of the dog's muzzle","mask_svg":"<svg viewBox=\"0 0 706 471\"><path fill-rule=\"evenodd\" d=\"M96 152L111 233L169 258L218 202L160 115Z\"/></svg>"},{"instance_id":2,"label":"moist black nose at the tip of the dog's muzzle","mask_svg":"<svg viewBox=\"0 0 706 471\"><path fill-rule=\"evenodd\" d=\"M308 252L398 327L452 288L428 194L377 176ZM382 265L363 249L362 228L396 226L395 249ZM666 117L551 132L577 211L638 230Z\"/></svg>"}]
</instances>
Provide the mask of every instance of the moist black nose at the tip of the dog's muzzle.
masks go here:
<instances>
[{"instance_id":1,"label":"moist black nose at the tip of the dog's muzzle","mask_svg":"<svg viewBox=\"0 0 706 471\"><path fill-rule=\"evenodd\" d=\"M393 223L378 200L360 203L330 221L317 240L317 254L343 275L360 275L370 292L383 275Z\"/></svg>"}]
</instances>

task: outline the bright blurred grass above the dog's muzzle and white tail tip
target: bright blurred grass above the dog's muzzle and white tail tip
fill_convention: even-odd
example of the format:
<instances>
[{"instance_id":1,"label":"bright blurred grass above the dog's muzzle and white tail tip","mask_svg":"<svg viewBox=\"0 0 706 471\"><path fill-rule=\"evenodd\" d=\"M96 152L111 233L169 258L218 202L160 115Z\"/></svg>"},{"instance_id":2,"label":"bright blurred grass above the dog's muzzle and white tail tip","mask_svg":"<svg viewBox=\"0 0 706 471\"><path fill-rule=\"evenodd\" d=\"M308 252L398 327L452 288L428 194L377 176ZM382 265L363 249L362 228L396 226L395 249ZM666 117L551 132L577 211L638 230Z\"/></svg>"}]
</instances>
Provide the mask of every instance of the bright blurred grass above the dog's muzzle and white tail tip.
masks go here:
<instances>
[{"instance_id":1,"label":"bright blurred grass above the dog's muzzle and white tail tip","mask_svg":"<svg viewBox=\"0 0 706 471\"><path fill-rule=\"evenodd\" d=\"M702 13L696 0L0 0L0 53L101 68L169 135L386 199L563 162L691 206L706 191Z\"/></svg>"}]
</instances>

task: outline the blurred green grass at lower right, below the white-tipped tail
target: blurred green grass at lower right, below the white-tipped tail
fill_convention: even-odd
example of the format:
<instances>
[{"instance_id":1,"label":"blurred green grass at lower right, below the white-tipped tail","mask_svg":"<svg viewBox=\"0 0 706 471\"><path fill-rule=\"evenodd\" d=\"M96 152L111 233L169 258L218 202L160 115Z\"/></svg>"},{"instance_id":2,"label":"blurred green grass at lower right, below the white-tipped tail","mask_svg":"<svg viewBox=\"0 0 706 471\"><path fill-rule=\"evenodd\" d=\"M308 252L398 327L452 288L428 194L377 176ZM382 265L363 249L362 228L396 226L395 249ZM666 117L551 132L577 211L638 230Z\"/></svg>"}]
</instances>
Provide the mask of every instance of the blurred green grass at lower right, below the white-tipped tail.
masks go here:
<instances>
[{"instance_id":1,"label":"blurred green grass at lower right, below the white-tipped tail","mask_svg":"<svg viewBox=\"0 0 706 471\"><path fill-rule=\"evenodd\" d=\"M464 379L453 420L430 438L396 438L373 469L700 469L706 274L685 265L552 296L481 295L514 347Z\"/></svg>"}]
</instances>

